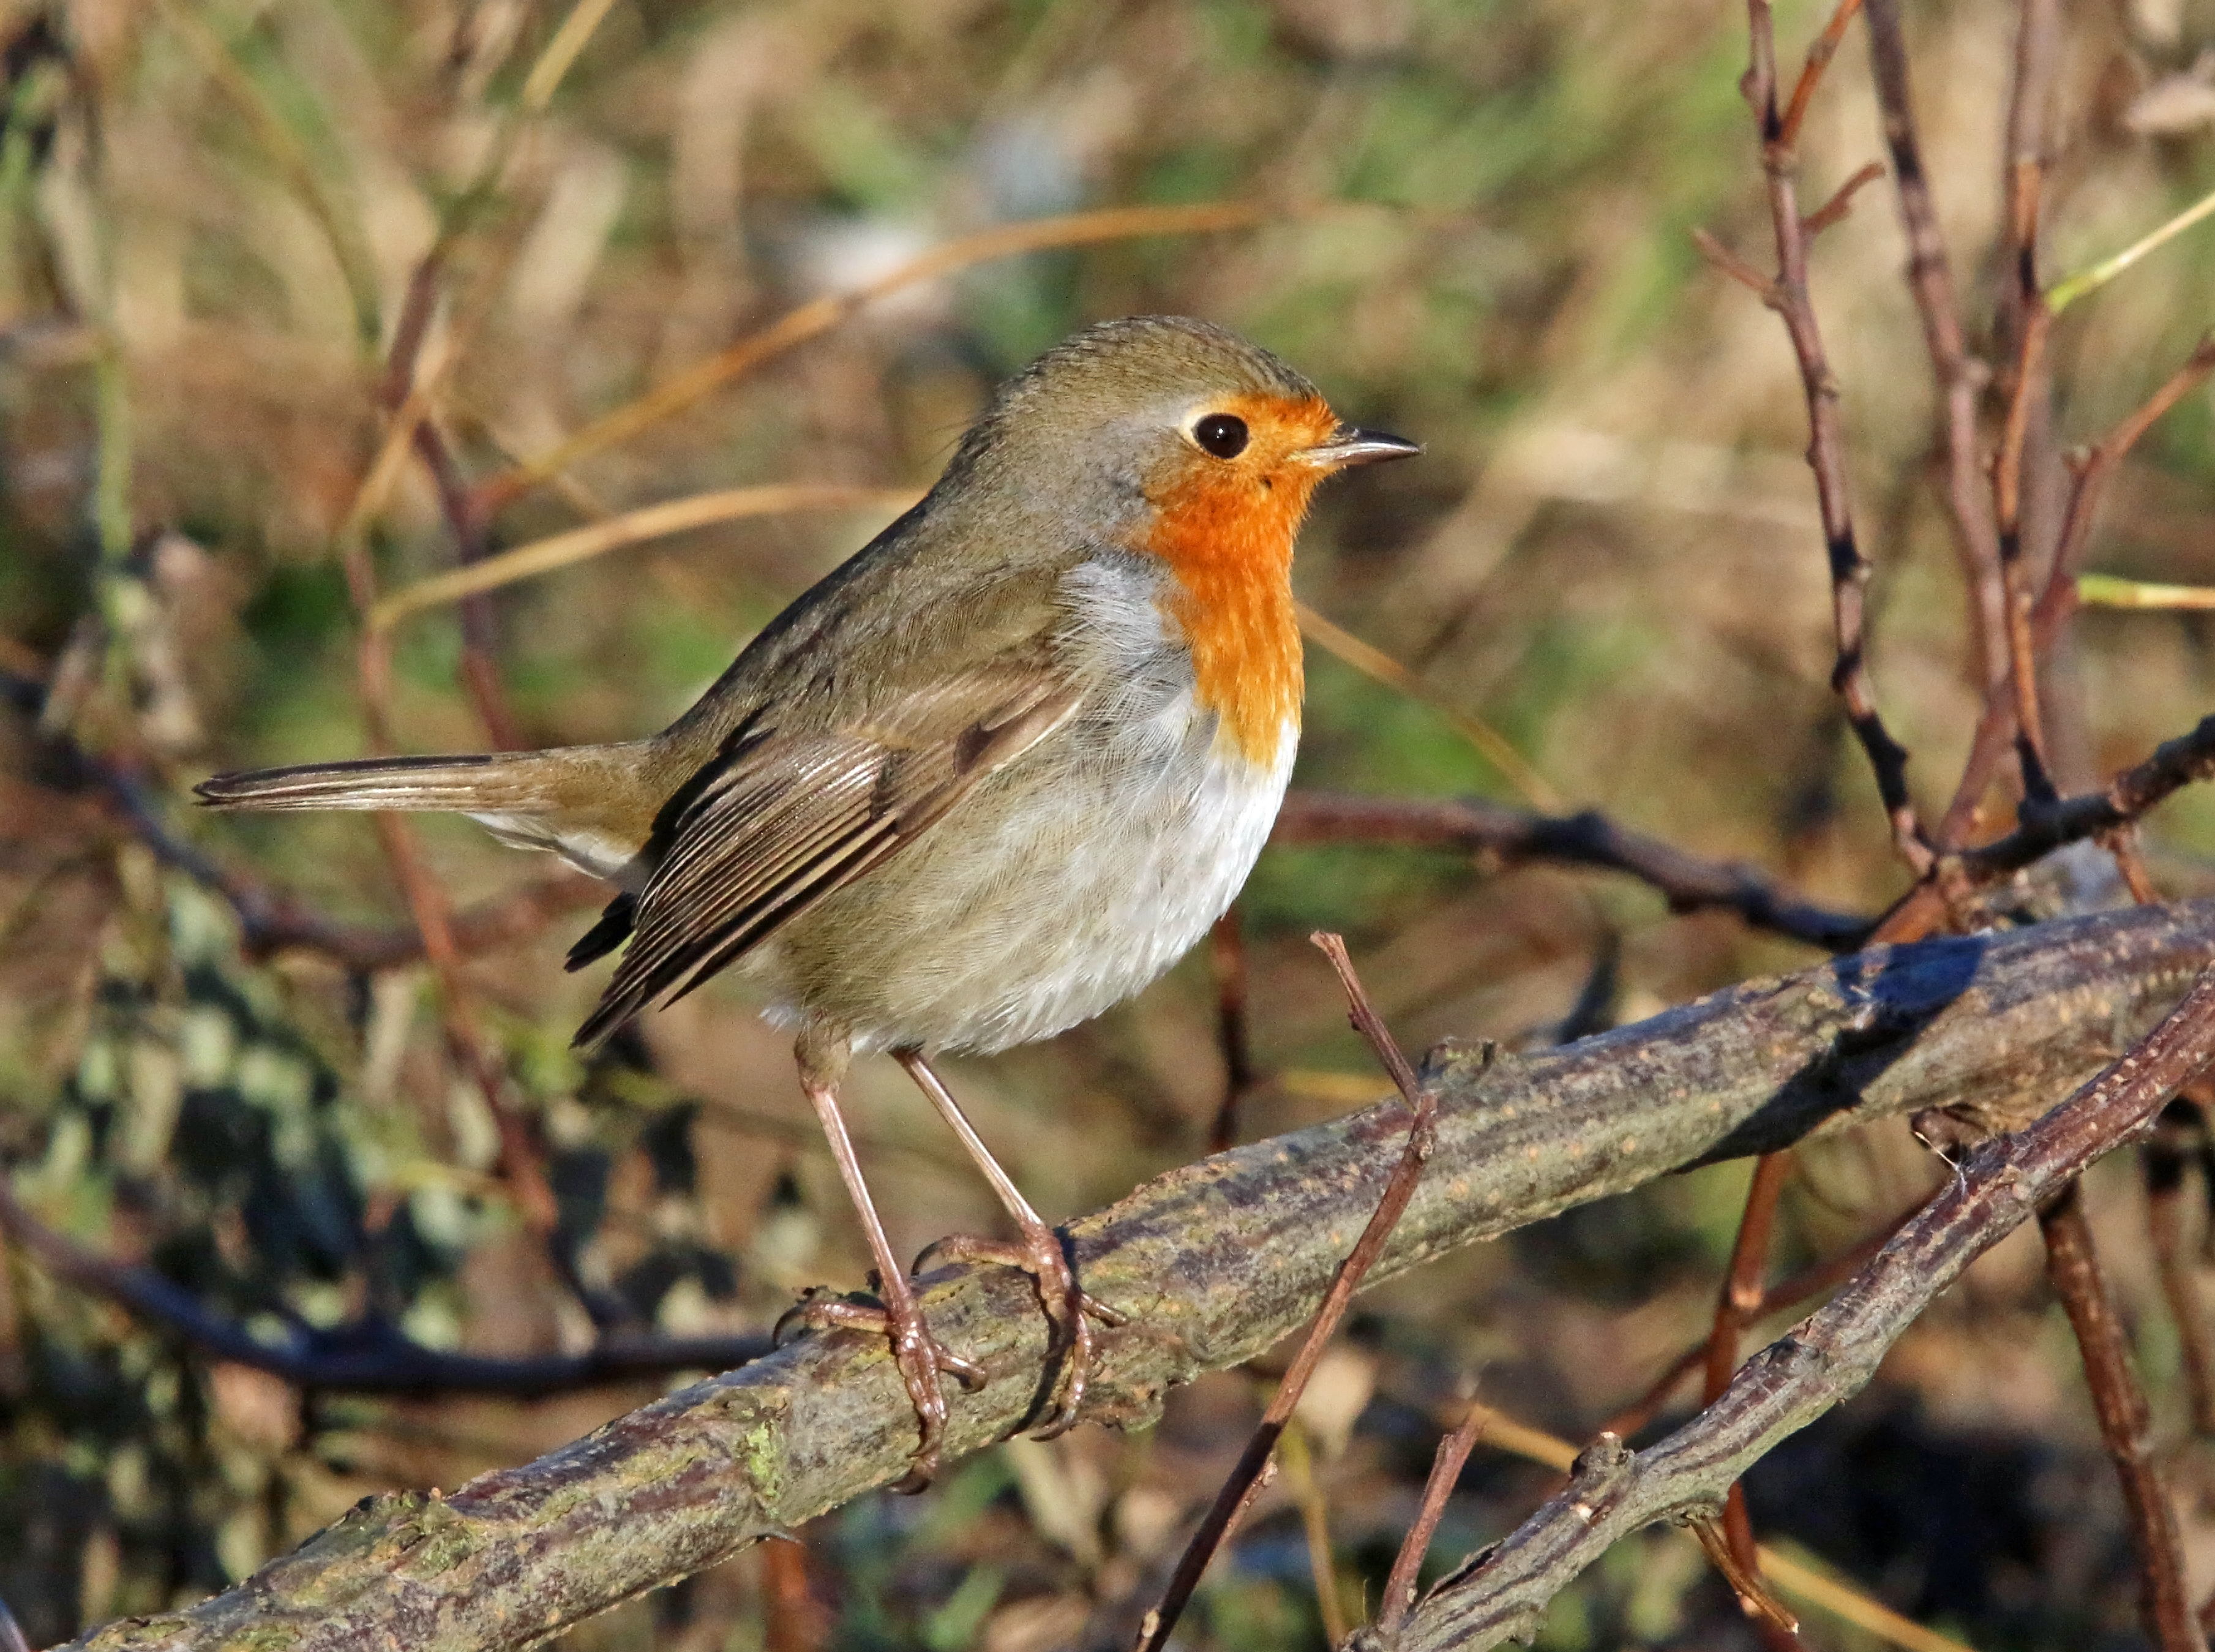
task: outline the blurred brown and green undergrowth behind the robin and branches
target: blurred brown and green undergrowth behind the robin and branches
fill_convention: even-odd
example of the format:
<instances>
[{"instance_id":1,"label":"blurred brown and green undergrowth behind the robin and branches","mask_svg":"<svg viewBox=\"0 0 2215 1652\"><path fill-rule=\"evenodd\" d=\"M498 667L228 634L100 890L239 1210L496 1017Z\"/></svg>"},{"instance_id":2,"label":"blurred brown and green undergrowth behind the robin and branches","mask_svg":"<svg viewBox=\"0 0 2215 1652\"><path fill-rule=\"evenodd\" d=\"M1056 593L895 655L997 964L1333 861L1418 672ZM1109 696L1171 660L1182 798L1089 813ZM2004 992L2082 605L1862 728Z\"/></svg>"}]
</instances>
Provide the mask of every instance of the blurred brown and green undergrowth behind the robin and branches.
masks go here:
<instances>
[{"instance_id":1,"label":"blurred brown and green undergrowth behind the robin and branches","mask_svg":"<svg viewBox=\"0 0 2215 1652\"><path fill-rule=\"evenodd\" d=\"M605 16L602 16L605 13ZM1827 16L1785 0L1796 64ZM571 33L563 35L565 18ZM598 18L596 27L589 27ZM2215 186L2215 2L2071 0L2049 270ZM1996 264L2016 13L1909 9L1929 171L1974 345ZM571 55L571 47L580 47ZM567 62L567 71L556 69ZM913 489L990 385L1068 330L1174 310L1307 370L1415 465L1325 492L1298 567L1322 613L1480 713L1575 804L1743 857L1814 899L1900 888L1832 700L1830 593L1799 379L1776 319L1694 252L1754 261L1768 217L1728 0L18 0L0 7L0 1154L42 1222L146 1262L268 1340L405 1335L478 1355L602 1335L762 1331L859 1245L786 1045L722 983L596 1070L567 1054L594 979L576 897L470 959L481 1034L552 1194L503 1174L501 1121L416 961L241 954L237 917L153 855L153 819L339 923L408 923L361 817L195 817L213 768L363 748L341 549L390 591L454 560L425 465L350 516L394 401L412 283L419 381L463 478L789 308L950 237L1108 204L1251 202L1245 230L975 264L862 308L490 523L523 545L746 483ZM556 84L558 82L558 84ZM1858 29L1812 111L1812 204L1883 155ZM1934 392L1887 186L1823 235L1814 295L1878 565L1883 709L1927 806L1980 700L1934 467ZM2075 306L2056 438L2137 405L2215 321L2202 230ZM427 270L427 277L425 277ZM403 388L405 390L405 388ZM2215 582L2215 401L2137 447L2093 567ZM890 507L662 538L498 591L476 640L529 744L680 711ZM2036 547L2033 547L2036 551ZM2188 726L2215 631L2091 613L2058 693L2082 786ZM476 748L445 607L394 633L392 733ZM82 764L80 764L82 768ZM1300 784L1515 791L1438 711L1320 651ZM467 826L423 830L454 901L545 873ZM2206 888L2215 806L2153 826L2164 886ZM571 917L574 912L574 917ZM545 917L545 915L543 915ZM1271 850L1243 908L1269 1078L1247 1136L1378 1090L1305 946L1349 932L1402 1041L1548 1041L1814 961L1621 879L1360 846ZM1606 970L1604 974L1595 974ZM1052 1045L964 1063L986 1136L1054 1216L1198 1156L1223 1090L1205 957ZM988 1227L986 1189L897 1072L853 1109L906 1247ZM1779 1269L1931 1183L1905 1129L1801 1158ZM1311 1532L1358 1614L1407 1526L1451 1395L1588 1437L1697 1340L1743 1165L1575 1211L1387 1287L1302 1413L1307 1473L1258 1506L1189 1645L1320 1645ZM2215 1583L2215 1455L2191 1437L2124 1165L2093 1216L2133 1315L2193 1577ZM33 1645L222 1588L388 1486L456 1486L656 1391L368 1400L210 1362L0 1240L0 1599ZM1679 1397L1679 1404L1686 1404ZM1127 1641L1163 1557L1258 1408L1256 1377L1178 1393L1136 1437L1019 1442L924 1499L868 1499L587 1625L594 1648ZM1544 1473L1480 1446L1440 1557L1502 1535ZM1854 1406L1752 1479L1756 1526L1980 1648L2129 1645L2133 1581L2075 1351L2036 1242L1954 1291ZM1302 1508L1305 1506L1305 1508ZM1739 1645L1692 1546L1619 1548L1544 1645ZM1810 1619L1821 1645L1872 1645Z\"/></svg>"}]
</instances>

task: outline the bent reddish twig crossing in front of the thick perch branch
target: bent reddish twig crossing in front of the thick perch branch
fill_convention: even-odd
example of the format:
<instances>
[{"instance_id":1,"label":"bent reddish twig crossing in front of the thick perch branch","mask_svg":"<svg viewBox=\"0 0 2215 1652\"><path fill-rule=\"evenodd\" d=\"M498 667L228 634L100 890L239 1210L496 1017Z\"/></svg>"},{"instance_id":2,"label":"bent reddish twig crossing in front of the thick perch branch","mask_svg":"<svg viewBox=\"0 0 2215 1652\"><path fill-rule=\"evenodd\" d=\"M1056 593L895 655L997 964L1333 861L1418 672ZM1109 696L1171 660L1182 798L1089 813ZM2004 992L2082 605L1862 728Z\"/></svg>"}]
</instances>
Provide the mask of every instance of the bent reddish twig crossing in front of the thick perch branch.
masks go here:
<instances>
[{"instance_id":1,"label":"bent reddish twig crossing in front of the thick perch branch","mask_svg":"<svg viewBox=\"0 0 2215 1652\"><path fill-rule=\"evenodd\" d=\"M1369 1218L1362 1236L1353 1242L1347 1260L1340 1262L1338 1271L1331 1276L1331 1289L1322 1295L1316 1322L1309 1326L1307 1340L1300 1344L1300 1353L1294 1355L1291 1369L1285 1373L1276 1395L1263 1411L1260 1426L1254 1431L1254 1437L1247 1439L1247 1448L1240 1453L1238 1466L1232 1468L1229 1477L1223 1481L1223 1488L1216 1493L1216 1501L1201 1519L1201 1528L1192 1535L1183 1557L1178 1557L1176 1572L1170 1577L1170 1588L1163 1592L1161 1605L1145 1614L1145 1628L1139 1632L1139 1652L1161 1652L1161 1648L1167 1645L1170 1634L1176 1630L1176 1621L1185 1614L1185 1605L1192 1601L1192 1590L1198 1588L1201 1574L1207 1570L1207 1561L1214 1559L1216 1548L1220 1548L1232 1521L1254 1495L1254 1484L1260 1479L1263 1468L1276 1453L1276 1442L1282 1437L1285 1424L1291 1422L1291 1413L1300 1404L1300 1395L1307 1391L1309 1377L1316 1373L1316 1362L1322 1360L1322 1351L1338 1333L1338 1322L1345 1318L1347 1304L1353 1300L1353 1291L1360 1289L1362 1278L1376 1264L1378 1256L1384 1253L1384 1240L1391 1238L1393 1227L1400 1225L1402 1211L1407 1211L1407 1202L1415 1196L1415 1183L1422 1180L1422 1167L1431 1158L1431 1147L1438 1140L1438 1096L1415 1076L1409 1059L1393 1041L1391 1030L1384 1025L1382 1016L1378 1016L1376 1005L1369 1003L1369 994L1362 990L1360 977L1353 974L1353 961L1347 957L1347 943L1336 935L1325 935L1320 930L1311 939L1318 948L1322 948L1322 954L1338 972L1338 981L1347 992L1347 1014L1353 1021L1353 1030L1369 1041L1378 1063L1400 1092L1400 1101L1407 1103L1407 1147L1400 1152L1400 1163L1384 1183L1384 1196L1378 1200L1376 1214Z\"/></svg>"}]
</instances>

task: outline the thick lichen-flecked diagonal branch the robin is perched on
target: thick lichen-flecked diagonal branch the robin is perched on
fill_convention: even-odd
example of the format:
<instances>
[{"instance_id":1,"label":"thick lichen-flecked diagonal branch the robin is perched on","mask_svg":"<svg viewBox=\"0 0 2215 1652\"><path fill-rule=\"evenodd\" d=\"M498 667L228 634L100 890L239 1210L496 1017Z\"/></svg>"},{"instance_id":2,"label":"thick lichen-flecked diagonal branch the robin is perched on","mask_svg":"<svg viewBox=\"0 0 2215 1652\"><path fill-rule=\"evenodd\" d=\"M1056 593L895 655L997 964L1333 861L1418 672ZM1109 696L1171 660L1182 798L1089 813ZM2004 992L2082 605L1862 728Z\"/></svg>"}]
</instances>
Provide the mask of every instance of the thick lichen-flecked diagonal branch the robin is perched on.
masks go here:
<instances>
[{"instance_id":1,"label":"thick lichen-flecked diagonal branch the robin is perched on","mask_svg":"<svg viewBox=\"0 0 2215 1652\"><path fill-rule=\"evenodd\" d=\"M2135 908L1881 948L1488 1067L1442 1045L1424 1074L1438 1149L1373 1278L1861 1121L2036 1112L2211 961L2215 904ZM1141 1422L1172 1384L1296 1331L1404 1134L1393 1098L1172 1171L1074 1222L1085 1287L1132 1315L1101 1338L1085 1415ZM948 1455L1032 1417L1054 1373L1030 1282L946 1269L928 1276L926 1307L990 1375L952 1400ZM913 1448L882 1338L817 1335L450 1497L370 1499L239 1588L82 1645L525 1648L899 1479Z\"/></svg>"}]
</instances>

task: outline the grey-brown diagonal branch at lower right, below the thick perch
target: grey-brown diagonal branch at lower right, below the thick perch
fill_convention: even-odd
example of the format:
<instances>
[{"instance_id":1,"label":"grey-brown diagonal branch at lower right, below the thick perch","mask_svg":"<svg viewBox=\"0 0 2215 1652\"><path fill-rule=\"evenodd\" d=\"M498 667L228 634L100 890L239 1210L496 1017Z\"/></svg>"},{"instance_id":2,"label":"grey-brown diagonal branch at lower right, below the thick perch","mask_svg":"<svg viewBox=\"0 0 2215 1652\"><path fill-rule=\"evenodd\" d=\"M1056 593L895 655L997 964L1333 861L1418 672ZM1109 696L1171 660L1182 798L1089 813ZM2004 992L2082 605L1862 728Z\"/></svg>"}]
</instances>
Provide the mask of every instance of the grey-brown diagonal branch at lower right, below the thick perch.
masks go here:
<instances>
[{"instance_id":1,"label":"grey-brown diagonal branch at lower right, below the thick perch","mask_svg":"<svg viewBox=\"0 0 2215 1652\"><path fill-rule=\"evenodd\" d=\"M1402 1650L1477 1652L1531 1634L1546 1601L1617 1539L1712 1515L1750 1464L1858 1393L1969 1262L2144 1127L2211 1059L2215 974L2202 974L2153 1034L2067 1103L1978 1147L1852 1284L1748 1362L1714 1406L1650 1450L1593 1462L1504 1543L1442 1579L1415 1608Z\"/></svg>"}]
</instances>

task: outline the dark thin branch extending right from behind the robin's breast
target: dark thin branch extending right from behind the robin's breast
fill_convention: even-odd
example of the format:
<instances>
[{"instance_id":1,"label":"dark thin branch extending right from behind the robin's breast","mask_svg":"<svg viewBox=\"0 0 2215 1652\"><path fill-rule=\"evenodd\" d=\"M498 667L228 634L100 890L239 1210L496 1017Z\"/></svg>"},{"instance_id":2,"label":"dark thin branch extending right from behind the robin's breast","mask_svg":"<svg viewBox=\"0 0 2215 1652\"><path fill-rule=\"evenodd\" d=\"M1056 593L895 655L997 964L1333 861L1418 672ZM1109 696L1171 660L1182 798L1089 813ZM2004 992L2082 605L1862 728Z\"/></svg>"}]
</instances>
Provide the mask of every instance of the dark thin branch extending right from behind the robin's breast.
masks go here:
<instances>
[{"instance_id":1,"label":"dark thin branch extending right from behind the robin's breast","mask_svg":"<svg viewBox=\"0 0 2215 1652\"><path fill-rule=\"evenodd\" d=\"M1765 873L1686 855L1606 815L1539 815L1480 797L1415 799L1294 791L1276 817L1271 844L1402 844L1495 855L1504 861L1559 861L1626 873L1659 890L1672 912L1728 910L1761 930L1807 946L1858 946L1872 919L1799 899Z\"/></svg>"}]
</instances>

